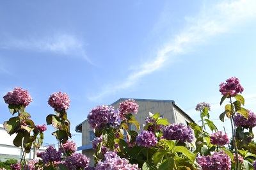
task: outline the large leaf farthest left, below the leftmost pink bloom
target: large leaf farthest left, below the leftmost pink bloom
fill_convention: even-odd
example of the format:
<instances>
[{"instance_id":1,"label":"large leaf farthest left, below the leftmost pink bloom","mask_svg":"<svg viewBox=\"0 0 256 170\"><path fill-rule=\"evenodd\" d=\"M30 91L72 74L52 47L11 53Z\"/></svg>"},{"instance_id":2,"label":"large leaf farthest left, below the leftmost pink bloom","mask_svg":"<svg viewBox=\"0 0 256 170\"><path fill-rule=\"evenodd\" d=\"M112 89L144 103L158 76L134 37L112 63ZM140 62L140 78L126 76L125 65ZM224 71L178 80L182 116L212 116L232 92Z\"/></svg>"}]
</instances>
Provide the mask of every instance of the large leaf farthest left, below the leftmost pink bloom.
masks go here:
<instances>
[{"instance_id":1,"label":"large leaf farthest left, below the leftmost pink bloom","mask_svg":"<svg viewBox=\"0 0 256 170\"><path fill-rule=\"evenodd\" d=\"M20 128L20 118L19 117L13 117L10 118L8 121L4 121L4 130L12 135Z\"/></svg>"}]
</instances>

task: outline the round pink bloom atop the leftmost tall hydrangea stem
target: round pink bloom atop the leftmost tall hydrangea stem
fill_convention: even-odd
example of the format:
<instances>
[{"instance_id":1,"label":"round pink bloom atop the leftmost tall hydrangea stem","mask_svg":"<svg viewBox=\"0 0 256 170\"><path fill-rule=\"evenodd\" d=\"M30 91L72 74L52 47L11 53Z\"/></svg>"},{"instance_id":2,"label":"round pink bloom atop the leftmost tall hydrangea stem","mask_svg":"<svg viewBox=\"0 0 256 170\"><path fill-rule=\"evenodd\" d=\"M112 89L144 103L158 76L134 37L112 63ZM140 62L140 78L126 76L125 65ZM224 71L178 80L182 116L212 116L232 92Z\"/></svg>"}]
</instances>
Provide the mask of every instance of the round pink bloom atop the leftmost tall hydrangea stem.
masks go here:
<instances>
[{"instance_id":1,"label":"round pink bloom atop the leftmost tall hydrangea stem","mask_svg":"<svg viewBox=\"0 0 256 170\"><path fill-rule=\"evenodd\" d=\"M27 107L30 102L32 102L32 98L29 95L28 90L23 90L22 88L17 87L13 88L13 91L9 91L3 98L6 104L21 104L23 107Z\"/></svg>"}]
</instances>

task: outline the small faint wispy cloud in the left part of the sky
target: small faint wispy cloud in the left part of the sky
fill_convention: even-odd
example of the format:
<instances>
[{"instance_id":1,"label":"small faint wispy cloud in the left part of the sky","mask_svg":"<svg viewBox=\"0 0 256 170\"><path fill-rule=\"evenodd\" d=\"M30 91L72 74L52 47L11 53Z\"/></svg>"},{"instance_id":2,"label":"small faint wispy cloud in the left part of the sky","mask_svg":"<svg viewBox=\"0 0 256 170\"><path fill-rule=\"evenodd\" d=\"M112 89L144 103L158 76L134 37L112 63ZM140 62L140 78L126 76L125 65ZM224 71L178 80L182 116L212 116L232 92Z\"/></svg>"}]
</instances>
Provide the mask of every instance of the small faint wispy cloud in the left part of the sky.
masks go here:
<instances>
[{"instance_id":1,"label":"small faint wispy cloud in the left part of the sky","mask_svg":"<svg viewBox=\"0 0 256 170\"><path fill-rule=\"evenodd\" d=\"M92 61L86 56L86 43L74 35L56 34L24 39L12 38L4 42L2 46L5 49L54 52L65 56L79 57L86 59L86 61L92 64Z\"/></svg>"}]
</instances>

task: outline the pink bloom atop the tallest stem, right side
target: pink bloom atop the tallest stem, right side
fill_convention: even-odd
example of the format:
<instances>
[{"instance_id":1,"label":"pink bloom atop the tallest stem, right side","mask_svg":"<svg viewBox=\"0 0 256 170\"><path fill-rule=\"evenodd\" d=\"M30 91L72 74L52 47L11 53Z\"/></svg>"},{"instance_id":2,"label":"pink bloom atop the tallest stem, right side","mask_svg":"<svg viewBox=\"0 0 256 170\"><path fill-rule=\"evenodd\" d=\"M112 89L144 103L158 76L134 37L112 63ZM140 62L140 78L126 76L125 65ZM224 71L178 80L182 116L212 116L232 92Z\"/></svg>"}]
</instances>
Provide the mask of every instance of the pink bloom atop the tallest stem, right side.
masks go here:
<instances>
[{"instance_id":1,"label":"pink bloom atop the tallest stem, right side","mask_svg":"<svg viewBox=\"0 0 256 170\"><path fill-rule=\"evenodd\" d=\"M242 93L244 88L239 83L239 79L231 77L227 79L226 83L221 82L220 92L222 95L227 95L228 98L236 96L238 93Z\"/></svg>"}]
</instances>

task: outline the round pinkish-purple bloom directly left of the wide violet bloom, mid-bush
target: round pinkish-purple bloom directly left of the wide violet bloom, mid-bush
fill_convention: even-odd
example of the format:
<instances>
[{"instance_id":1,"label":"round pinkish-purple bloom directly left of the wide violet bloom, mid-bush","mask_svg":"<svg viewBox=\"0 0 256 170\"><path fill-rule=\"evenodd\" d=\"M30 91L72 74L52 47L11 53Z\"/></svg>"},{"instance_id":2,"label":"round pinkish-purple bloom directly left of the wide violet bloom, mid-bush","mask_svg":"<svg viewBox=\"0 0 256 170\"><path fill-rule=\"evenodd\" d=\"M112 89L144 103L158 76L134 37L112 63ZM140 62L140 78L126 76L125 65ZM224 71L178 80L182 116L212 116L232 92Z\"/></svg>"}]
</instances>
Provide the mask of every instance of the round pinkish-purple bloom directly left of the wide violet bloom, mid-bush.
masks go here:
<instances>
[{"instance_id":1,"label":"round pinkish-purple bloom directly left of the wide violet bloom, mid-bush","mask_svg":"<svg viewBox=\"0 0 256 170\"><path fill-rule=\"evenodd\" d=\"M151 146L156 146L157 138L155 134L147 130L141 131L141 133L136 137L136 143L138 146L143 146L150 148Z\"/></svg>"}]
</instances>

